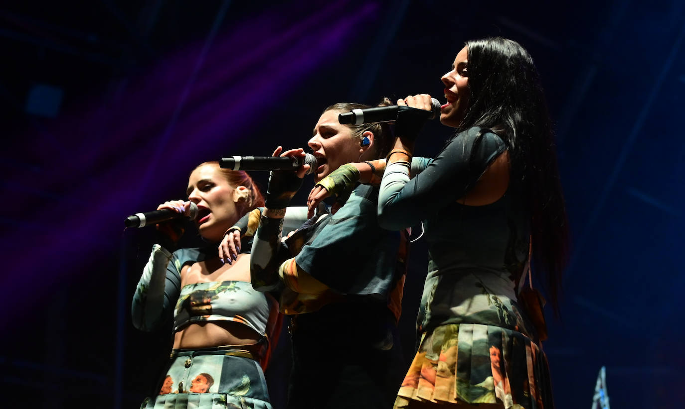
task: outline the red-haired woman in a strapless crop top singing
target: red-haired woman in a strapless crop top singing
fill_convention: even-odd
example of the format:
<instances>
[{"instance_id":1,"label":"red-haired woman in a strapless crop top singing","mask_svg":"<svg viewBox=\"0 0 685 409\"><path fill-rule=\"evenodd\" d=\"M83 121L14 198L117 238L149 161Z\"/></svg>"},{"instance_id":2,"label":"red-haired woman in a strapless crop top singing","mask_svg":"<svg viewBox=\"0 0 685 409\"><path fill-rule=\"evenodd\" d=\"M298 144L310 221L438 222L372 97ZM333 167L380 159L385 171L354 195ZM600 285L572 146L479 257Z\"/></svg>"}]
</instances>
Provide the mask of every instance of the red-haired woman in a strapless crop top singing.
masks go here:
<instances>
[{"instance_id":1,"label":"red-haired woman in a strapless crop top singing","mask_svg":"<svg viewBox=\"0 0 685 409\"><path fill-rule=\"evenodd\" d=\"M173 350L160 391L141 408L271 408L262 367L275 345L278 303L252 288L249 246L220 261L216 245L242 215L264 204L245 172L217 162L195 168L188 200L198 207L197 228L206 248L173 250L173 229L153 246L132 305L140 330L153 330L173 316ZM174 200L158 209L188 211ZM176 236L176 237L175 237Z\"/></svg>"}]
</instances>

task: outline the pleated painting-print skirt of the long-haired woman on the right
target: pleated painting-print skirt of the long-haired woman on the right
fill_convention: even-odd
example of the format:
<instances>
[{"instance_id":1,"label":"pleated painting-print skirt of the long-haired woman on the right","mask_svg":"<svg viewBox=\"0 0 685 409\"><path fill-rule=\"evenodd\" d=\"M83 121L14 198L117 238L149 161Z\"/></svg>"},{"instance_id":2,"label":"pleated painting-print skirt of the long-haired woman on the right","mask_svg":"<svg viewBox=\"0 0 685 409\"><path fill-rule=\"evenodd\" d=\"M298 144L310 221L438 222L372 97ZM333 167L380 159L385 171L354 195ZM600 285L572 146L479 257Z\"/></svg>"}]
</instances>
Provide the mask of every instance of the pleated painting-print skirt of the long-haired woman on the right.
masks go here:
<instances>
[{"instance_id":1,"label":"pleated painting-print skirt of the long-haired woman on the right","mask_svg":"<svg viewBox=\"0 0 685 409\"><path fill-rule=\"evenodd\" d=\"M483 324L449 324L424 333L397 395L395 408L412 399L553 408L544 352L521 332Z\"/></svg>"}]
</instances>

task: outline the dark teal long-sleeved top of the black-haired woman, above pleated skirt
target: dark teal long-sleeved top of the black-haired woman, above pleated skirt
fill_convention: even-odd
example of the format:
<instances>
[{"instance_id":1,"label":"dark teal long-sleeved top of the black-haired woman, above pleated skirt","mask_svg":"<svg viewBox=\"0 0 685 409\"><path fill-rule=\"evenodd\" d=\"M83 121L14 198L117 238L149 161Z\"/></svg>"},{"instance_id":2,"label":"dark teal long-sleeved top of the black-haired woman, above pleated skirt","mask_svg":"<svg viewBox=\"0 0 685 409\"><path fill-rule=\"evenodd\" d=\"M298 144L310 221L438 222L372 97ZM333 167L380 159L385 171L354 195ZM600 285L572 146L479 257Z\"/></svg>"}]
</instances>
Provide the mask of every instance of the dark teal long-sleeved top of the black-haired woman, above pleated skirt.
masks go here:
<instances>
[{"instance_id":1,"label":"dark teal long-sleeved top of the black-haired woman, above pleated skirt","mask_svg":"<svg viewBox=\"0 0 685 409\"><path fill-rule=\"evenodd\" d=\"M507 192L490 205L457 201L506 149L497 134L471 128L449 141L435 159L423 161L418 174L410 174L406 163L386 168L379 223L396 229L423 221L428 243L421 332L461 323L532 330L516 304L530 237L519 183L510 181Z\"/></svg>"}]
</instances>

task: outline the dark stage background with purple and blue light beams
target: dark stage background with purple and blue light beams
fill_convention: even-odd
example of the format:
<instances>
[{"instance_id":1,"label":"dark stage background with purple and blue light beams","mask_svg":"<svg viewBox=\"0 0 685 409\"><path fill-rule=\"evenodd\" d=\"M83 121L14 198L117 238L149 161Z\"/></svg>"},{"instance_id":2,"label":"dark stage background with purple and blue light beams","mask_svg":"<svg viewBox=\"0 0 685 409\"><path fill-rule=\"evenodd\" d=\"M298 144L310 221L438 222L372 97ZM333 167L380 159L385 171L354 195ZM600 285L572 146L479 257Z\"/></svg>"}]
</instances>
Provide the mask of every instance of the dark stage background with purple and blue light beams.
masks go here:
<instances>
[{"instance_id":1,"label":"dark stage background with purple and blue light beams","mask_svg":"<svg viewBox=\"0 0 685 409\"><path fill-rule=\"evenodd\" d=\"M152 237L123 219L182 198L201 161L304 146L330 103L443 99L462 42L488 35L531 51L556 122L573 231L545 344L558 408L590 408L603 365L614 409L682 408L682 0L4 3L0 406L137 408L171 328L131 324ZM430 124L418 153L448 136ZM425 265L419 241L408 357Z\"/></svg>"}]
</instances>

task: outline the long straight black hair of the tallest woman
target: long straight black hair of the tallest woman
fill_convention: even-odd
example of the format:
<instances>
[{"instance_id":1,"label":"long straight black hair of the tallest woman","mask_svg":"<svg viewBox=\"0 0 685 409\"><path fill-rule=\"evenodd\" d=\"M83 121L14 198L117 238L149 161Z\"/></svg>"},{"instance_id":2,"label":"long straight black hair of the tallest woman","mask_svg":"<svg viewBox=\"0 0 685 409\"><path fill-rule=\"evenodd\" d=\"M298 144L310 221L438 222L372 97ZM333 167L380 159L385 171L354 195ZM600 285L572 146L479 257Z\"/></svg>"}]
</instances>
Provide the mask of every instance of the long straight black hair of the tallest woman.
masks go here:
<instances>
[{"instance_id":1,"label":"long straight black hair of the tallest woman","mask_svg":"<svg viewBox=\"0 0 685 409\"><path fill-rule=\"evenodd\" d=\"M501 37L466 42L469 107L458 131L488 128L507 144L511 177L523 187L531 215L532 262L544 272L555 313L568 261L569 227L554 134L530 54Z\"/></svg>"}]
</instances>

